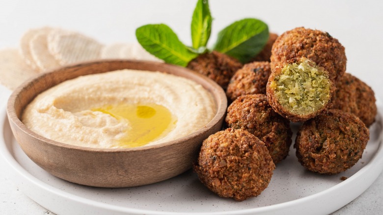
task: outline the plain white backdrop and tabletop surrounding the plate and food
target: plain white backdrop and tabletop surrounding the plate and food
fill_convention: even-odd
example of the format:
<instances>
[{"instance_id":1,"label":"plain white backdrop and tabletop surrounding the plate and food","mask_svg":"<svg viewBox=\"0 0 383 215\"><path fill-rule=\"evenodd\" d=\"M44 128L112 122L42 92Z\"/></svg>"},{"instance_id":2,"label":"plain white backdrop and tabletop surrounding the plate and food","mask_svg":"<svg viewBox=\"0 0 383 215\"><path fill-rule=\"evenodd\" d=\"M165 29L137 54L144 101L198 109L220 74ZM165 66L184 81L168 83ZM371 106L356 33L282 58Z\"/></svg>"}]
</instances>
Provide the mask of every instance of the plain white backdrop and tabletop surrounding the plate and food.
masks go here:
<instances>
[{"instance_id":1,"label":"plain white backdrop and tabletop surrounding the plate and food","mask_svg":"<svg viewBox=\"0 0 383 215\"><path fill-rule=\"evenodd\" d=\"M196 0L0 0L0 49L18 47L23 33L34 27L77 30L104 44L135 42L135 29L165 23L191 44L190 21ZM255 1L210 0L214 17L212 46L220 29L254 17L278 34L294 27L328 31L346 48L347 72L368 83L383 99L383 1ZM10 91L0 86L0 104ZM0 214L46 215L7 178L0 162ZM334 215L378 215L383 211L383 174L364 193Z\"/></svg>"}]
</instances>

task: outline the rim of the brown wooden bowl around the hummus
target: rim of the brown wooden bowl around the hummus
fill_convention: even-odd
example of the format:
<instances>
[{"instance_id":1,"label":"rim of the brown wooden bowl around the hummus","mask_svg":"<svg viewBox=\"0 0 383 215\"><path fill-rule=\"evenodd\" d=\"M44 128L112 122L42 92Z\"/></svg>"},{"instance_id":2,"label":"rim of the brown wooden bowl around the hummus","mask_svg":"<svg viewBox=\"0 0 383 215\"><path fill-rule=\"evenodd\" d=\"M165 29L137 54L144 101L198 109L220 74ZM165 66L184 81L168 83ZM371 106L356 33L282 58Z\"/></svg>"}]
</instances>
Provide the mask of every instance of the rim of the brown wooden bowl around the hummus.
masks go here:
<instances>
[{"instance_id":1,"label":"rim of the brown wooden bowl around the hummus","mask_svg":"<svg viewBox=\"0 0 383 215\"><path fill-rule=\"evenodd\" d=\"M22 91L24 91L27 87L33 85L37 80L43 79L43 78L46 78L46 77L49 77L49 76L52 76L52 74L58 73L58 72L60 72L62 70L68 70L68 69L71 69L71 68L76 68L76 67L81 67L81 66L82 67L86 67L86 66L90 66L90 65L93 65L93 64L105 63L105 62L109 62L109 63L113 63L113 62L131 62L131 63L138 63L138 64L139 63L146 63L146 64L153 64L155 66L160 66L161 65L163 67L174 67L174 68L177 68L177 69L181 70L182 73L185 73L185 74L189 73L189 75L191 75L191 76L197 76L199 78L202 78L203 81L206 81L208 84L212 85L212 89L213 90L207 89L200 82L197 82L195 80L192 80L192 81L200 84L205 90L210 92L210 94L213 96L214 102L215 102L216 107L217 107L216 113L215 113L214 117L207 124L205 124L203 127L201 127L200 129L198 129L197 131L195 131L195 132L193 132L191 134L188 134L186 136L183 136L183 137L171 140L171 141L166 141L166 142L158 143L158 144L155 144L155 145L149 145L149 146L145 145L145 146L132 147L132 148L86 147L86 146L79 146L79 145L73 145L73 144L68 144L68 143L63 143L63 142L55 141L53 139L49 139L47 137L44 137L44 136L42 136L40 134L37 134L37 133L33 132L17 116L16 109L15 109L15 102L18 99L18 95ZM127 68L127 69L129 69L129 68ZM133 70L145 71L143 69L133 69ZM109 70L109 71L105 71L105 72L101 72L101 73L107 73L107 72L111 72L111 71L115 71L115 70ZM148 70L146 70L146 71L148 71ZM154 70L154 71L151 71L151 72L155 72L155 71L158 71L158 70ZM160 72L162 72L162 71L160 71ZM166 73L166 72L162 72L162 73ZM92 73L92 74L95 74L95 73ZM171 74L171 73L167 73L167 74ZM172 74L172 75L174 75L174 74ZM82 76L82 75L80 75L80 76ZM80 76L77 76L77 77L80 77ZM175 76L178 76L178 75L175 75ZM77 77L69 78L69 79L66 79L64 81L75 79ZM183 76L180 76L180 77L189 79L189 78L183 77ZM60 81L57 84L59 84L61 82L63 82L63 81ZM55 85L57 85L57 84L55 84ZM55 85L52 85L51 87L53 87ZM51 87L48 87L48 88L46 88L45 90L43 90L43 91L41 91L39 93L35 93L33 95L32 100L37 95L39 95L40 93L50 89ZM221 99L221 101L219 102L218 99ZM27 105L23 108L23 110L21 112L24 111L24 109L27 107ZM156 61L148 61L148 60L103 59L103 60L86 61L86 62L75 63L75 64L71 64L71 65L67 65L67 66L58 67L58 68L55 68L53 70L49 70L48 72L45 72L45 73L42 73L42 74L38 74L38 75L28 79L27 81L25 81L21 85L19 85L12 92L12 94L10 95L10 97L8 99L8 102L7 102L6 112L7 112L8 120L10 122L13 122L22 132L26 133L27 135L31 136L32 138L36 138L36 139L38 139L40 141L43 141L45 143L53 144L55 146L63 147L63 148L68 148L68 149L75 149L75 150L82 150L82 151L93 151L93 152L113 153L113 152L134 152L134 151L154 150L154 149L160 149L160 148L163 148L163 147L168 147L168 146L171 146L171 145L175 145L175 144L184 142L185 140L191 139L191 138L193 138L195 136L198 136L199 134L203 134L204 132L208 131L210 128L214 127L216 125L216 123L219 122L220 119L225 116L226 108L227 108L227 97L226 97L226 94L225 94L224 90L222 89L222 87L220 87L219 84L216 83L215 81L213 81L212 79L210 79L210 78L208 78L208 77L206 77L206 76L204 76L202 74L199 74L197 72L194 72L194 71L192 71L192 70L190 70L190 69L188 69L186 67L181 67L181 66L178 66L178 65L162 63L162 62L156 62Z\"/></svg>"}]
</instances>

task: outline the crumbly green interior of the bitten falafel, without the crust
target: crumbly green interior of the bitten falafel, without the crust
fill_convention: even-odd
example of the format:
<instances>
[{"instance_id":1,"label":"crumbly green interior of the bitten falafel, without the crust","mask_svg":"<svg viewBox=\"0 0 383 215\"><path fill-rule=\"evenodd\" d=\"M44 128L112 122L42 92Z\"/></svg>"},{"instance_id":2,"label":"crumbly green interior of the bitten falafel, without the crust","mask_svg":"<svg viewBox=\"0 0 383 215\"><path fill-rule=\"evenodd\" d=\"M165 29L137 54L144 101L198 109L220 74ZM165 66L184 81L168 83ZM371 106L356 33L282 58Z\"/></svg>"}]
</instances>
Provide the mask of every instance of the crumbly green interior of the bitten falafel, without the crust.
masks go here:
<instances>
[{"instance_id":1,"label":"crumbly green interior of the bitten falafel, without the crust","mask_svg":"<svg viewBox=\"0 0 383 215\"><path fill-rule=\"evenodd\" d=\"M307 58L284 64L270 87L279 104L294 114L307 115L330 101L328 72Z\"/></svg>"}]
</instances>

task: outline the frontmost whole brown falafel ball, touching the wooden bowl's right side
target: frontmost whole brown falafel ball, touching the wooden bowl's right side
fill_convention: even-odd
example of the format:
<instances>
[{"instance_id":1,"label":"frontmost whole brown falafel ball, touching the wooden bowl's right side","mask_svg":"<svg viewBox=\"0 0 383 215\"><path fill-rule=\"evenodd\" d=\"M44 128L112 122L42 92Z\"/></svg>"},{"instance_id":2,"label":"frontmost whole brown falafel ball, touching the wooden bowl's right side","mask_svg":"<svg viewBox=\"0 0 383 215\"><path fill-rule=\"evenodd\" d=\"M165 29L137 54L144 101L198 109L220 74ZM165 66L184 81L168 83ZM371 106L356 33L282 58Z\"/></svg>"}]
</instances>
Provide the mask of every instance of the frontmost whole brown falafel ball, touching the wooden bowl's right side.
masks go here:
<instances>
[{"instance_id":1,"label":"frontmost whole brown falafel ball, touching the wooden bowl's right side","mask_svg":"<svg viewBox=\"0 0 383 215\"><path fill-rule=\"evenodd\" d=\"M267 188L275 165L260 139L229 128L203 141L193 168L199 180L219 196L243 201Z\"/></svg>"}]
</instances>

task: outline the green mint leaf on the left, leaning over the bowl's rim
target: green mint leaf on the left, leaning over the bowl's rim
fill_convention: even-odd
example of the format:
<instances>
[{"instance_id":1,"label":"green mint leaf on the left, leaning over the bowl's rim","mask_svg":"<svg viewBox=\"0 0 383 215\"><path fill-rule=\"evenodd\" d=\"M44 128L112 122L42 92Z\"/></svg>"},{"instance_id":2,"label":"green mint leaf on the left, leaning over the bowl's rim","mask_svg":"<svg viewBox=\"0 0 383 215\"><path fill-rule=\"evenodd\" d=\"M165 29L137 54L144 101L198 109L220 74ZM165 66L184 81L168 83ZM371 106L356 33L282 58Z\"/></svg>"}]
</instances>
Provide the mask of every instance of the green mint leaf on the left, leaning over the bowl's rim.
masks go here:
<instances>
[{"instance_id":1,"label":"green mint leaf on the left, leaning over the bowl's rim","mask_svg":"<svg viewBox=\"0 0 383 215\"><path fill-rule=\"evenodd\" d=\"M145 25L136 29L136 37L141 46L150 54L166 63L187 66L198 56L192 53L177 37L173 30L164 25Z\"/></svg>"}]
</instances>

